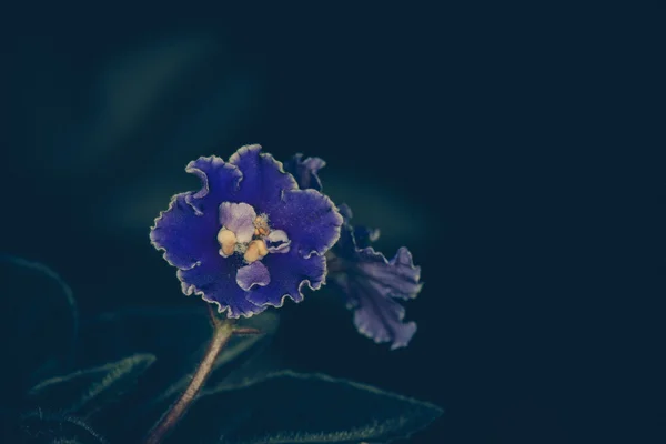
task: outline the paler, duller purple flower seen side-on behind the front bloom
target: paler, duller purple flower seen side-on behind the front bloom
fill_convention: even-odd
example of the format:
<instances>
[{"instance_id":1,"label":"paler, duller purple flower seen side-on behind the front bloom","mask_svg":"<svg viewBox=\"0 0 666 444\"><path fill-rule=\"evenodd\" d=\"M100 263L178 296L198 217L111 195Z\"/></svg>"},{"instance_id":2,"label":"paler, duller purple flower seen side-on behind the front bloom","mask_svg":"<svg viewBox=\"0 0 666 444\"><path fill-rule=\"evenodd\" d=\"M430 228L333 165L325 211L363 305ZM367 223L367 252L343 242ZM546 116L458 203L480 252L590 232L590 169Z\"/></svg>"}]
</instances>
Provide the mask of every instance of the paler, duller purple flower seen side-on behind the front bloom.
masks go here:
<instances>
[{"instance_id":1,"label":"paler, duller purple flower seen side-on behind the front bloom","mask_svg":"<svg viewBox=\"0 0 666 444\"><path fill-rule=\"evenodd\" d=\"M302 160L296 154L286 163L304 188L321 182L319 170L324 165L321 159ZM377 343L391 342L391 349L406 346L416 332L414 322L404 322L405 310L400 300L416 297L423 284L421 269L414 266L412 254L401 248L392 260L376 252L371 245L380 236L380 231L350 223L352 212L341 205L344 224L337 243L326 253L329 281L346 296L346 306L354 312L354 324L360 333Z\"/></svg>"}]
</instances>

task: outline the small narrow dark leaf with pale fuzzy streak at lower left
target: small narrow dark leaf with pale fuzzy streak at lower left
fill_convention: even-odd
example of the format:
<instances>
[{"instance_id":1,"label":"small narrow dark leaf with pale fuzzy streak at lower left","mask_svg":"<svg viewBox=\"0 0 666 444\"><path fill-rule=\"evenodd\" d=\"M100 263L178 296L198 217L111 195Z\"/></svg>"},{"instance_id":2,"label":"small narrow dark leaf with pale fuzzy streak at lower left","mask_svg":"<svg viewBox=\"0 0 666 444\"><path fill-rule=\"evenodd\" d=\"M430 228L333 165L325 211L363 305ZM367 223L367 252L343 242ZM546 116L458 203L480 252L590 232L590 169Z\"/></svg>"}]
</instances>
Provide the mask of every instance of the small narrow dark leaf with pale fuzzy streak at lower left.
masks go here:
<instances>
[{"instance_id":1,"label":"small narrow dark leaf with pale fuzzy streak at lower left","mask_svg":"<svg viewBox=\"0 0 666 444\"><path fill-rule=\"evenodd\" d=\"M132 389L154 362L151 354L138 354L94 369L46 380L30 390L28 398L41 408L90 413Z\"/></svg>"}]
</instances>

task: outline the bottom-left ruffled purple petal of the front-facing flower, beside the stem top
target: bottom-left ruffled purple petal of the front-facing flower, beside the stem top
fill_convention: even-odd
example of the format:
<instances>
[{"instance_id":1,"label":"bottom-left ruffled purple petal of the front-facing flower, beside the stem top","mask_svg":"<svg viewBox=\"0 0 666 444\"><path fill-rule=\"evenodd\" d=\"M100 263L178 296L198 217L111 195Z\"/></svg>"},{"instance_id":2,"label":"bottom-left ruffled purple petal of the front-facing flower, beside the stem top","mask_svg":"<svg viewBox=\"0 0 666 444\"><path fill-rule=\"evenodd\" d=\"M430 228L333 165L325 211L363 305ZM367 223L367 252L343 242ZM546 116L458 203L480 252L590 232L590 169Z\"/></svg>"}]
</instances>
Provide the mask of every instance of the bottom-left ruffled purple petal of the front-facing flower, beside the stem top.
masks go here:
<instances>
[{"instance_id":1,"label":"bottom-left ruffled purple petal of the front-facing flower, beside the stem top","mask_svg":"<svg viewBox=\"0 0 666 444\"><path fill-rule=\"evenodd\" d=\"M195 293L206 302L216 303L220 313L229 310L229 317L249 317L266 307L248 301L248 293L236 283L236 272L242 266L242 258L222 258L215 249L211 249L199 265L179 270L178 279L186 295Z\"/></svg>"}]
</instances>

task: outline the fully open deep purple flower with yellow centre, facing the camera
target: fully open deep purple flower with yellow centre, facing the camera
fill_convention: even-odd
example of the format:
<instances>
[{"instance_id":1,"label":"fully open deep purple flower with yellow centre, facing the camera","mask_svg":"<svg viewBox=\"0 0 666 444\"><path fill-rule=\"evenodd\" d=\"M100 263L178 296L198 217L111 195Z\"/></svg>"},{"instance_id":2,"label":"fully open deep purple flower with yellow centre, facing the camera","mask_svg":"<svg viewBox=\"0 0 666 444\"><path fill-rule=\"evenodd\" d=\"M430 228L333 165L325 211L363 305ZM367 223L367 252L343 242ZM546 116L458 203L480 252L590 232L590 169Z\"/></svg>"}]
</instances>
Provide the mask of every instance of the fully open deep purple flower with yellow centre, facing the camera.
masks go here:
<instances>
[{"instance_id":1,"label":"fully open deep purple flower with yellow centre, facing the camera","mask_svg":"<svg viewBox=\"0 0 666 444\"><path fill-rule=\"evenodd\" d=\"M190 162L185 171L202 189L174 195L150 233L179 269L183 293L200 294L229 317L282 306L285 296L300 302L305 283L317 290L343 222L329 198L300 190L282 163L260 151L246 145L229 162Z\"/></svg>"}]
</instances>

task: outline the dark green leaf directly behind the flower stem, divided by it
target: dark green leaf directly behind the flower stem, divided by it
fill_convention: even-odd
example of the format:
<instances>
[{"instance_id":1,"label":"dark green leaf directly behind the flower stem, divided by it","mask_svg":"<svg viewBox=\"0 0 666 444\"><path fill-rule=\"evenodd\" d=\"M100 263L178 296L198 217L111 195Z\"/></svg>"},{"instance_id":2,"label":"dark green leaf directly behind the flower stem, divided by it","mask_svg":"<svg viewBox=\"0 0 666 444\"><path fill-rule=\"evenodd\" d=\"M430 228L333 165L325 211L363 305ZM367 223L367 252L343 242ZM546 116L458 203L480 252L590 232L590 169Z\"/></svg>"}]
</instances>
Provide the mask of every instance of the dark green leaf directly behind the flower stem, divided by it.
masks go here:
<instances>
[{"instance_id":1,"label":"dark green leaf directly behind the flower stem, divided by it","mask_svg":"<svg viewBox=\"0 0 666 444\"><path fill-rule=\"evenodd\" d=\"M280 316L264 312L239 322L261 335L232 336L215 361L206 385L215 385L264 350L279 325ZM139 440L175 401L201 361L212 336L205 304L195 307L143 307L103 314L82 327L85 355L92 362L117 359L121 353L151 353L158 357L147 377L131 395L105 408L102 433L112 441ZM115 440L114 440L115 438Z\"/></svg>"}]
</instances>

